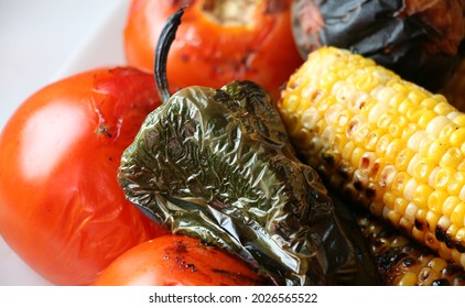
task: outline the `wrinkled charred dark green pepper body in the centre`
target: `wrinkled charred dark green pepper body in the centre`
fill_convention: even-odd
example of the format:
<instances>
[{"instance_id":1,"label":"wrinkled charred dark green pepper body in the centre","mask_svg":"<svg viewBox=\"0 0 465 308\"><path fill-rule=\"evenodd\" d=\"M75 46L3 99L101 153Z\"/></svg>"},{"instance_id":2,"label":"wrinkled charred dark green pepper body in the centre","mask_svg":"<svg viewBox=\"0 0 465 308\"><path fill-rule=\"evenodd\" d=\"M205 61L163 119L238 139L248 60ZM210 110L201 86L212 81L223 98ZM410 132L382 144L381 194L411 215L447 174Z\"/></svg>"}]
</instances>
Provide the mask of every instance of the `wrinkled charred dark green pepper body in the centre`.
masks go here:
<instances>
[{"instance_id":1,"label":"wrinkled charred dark green pepper body in the centre","mask_svg":"<svg viewBox=\"0 0 465 308\"><path fill-rule=\"evenodd\" d=\"M158 223L231 252L273 284L378 283L354 218L294 156L253 82L171 96L125 152L119 182Z\"/></svg>"}]
</instances>

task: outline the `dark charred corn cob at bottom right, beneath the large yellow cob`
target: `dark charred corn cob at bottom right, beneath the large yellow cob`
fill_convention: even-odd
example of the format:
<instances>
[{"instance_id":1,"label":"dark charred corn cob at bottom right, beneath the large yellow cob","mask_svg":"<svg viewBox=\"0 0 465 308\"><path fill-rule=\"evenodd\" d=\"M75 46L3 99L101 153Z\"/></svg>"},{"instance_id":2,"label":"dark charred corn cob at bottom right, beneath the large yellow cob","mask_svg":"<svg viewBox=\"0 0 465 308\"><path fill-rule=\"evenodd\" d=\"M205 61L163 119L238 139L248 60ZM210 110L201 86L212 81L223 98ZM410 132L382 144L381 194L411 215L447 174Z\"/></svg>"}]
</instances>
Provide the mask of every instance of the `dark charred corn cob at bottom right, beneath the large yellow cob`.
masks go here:
<instances>
[{"instance_id":1,"label":"dark charred corn cob at bottom right, beneath the large yellow cob","mask_svg":"<svg viewBox=\"0 0 465 308\"><path fill-rule=\"evenodd\" d=\"M465 271L370 215L357 215L382 282L388 286L463 286Z\"/></svg>"}]
</instances>

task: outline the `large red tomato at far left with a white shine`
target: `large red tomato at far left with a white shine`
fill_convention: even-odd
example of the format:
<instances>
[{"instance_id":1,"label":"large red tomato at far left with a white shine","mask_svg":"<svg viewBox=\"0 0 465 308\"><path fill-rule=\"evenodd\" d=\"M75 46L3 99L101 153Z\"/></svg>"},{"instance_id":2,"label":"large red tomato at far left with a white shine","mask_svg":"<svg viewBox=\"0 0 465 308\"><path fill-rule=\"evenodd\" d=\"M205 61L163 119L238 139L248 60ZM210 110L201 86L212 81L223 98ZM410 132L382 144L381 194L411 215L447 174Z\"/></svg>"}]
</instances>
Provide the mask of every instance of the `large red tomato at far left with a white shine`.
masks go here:
<instances>
[{"instance_id":1,"label":"large red tomato at far left with a white shine","mask_svg":"<svg viewBox=\"0 0 465 308\"><path fill-rule=\"evenodd\" d=\"M52 84L0 135L0 231L54 284L85 285L118 255L165 233L126 200L123 150L160 105L153 76L97 69Z\"/></svg>"}]
</instances>

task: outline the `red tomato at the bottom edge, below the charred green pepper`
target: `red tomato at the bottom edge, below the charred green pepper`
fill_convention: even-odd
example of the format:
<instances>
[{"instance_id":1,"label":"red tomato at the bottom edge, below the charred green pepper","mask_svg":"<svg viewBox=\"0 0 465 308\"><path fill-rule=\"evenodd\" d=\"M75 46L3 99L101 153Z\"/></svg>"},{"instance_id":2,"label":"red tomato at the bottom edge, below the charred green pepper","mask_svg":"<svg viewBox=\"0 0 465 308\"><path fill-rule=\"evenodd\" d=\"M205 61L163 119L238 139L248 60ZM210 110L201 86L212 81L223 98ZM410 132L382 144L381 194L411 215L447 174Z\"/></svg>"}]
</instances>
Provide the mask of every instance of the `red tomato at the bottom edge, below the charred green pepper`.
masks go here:
<instances>
[{"instance_id":1,"label":"red tomato at the bottom edge, below the charred green pepper","mask_svg":"<svg viewBox=\"0 0 465 308\"><path fill-rule=\"evenodd\" d=\"M264 279L223 250L170 234L121 254L94 285L240 286L264 285Z\"/></svg>"}]
</instances>

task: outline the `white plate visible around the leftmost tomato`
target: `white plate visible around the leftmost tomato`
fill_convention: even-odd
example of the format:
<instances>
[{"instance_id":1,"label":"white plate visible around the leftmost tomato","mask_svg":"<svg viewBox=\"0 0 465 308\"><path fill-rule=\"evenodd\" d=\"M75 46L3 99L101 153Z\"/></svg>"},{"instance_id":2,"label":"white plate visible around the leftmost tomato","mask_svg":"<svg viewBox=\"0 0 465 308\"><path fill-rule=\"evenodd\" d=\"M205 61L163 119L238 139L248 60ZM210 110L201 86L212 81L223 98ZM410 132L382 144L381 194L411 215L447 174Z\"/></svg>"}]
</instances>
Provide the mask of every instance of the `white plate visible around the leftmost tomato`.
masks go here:
<instances>
[{"instance_id":1,"label":"white plate visible around the leftmost tomato","mask_svg":"<svg viewBox=\"0 0 465 308\"><path fill-rule=\"evenodd\" d=\"M25 98L47 84L98 66L122 65L122 30L129 2L2 0L0 130ZM0 285L51 283L32 271L0 237Z\"/></svg>"}]
</instances>

